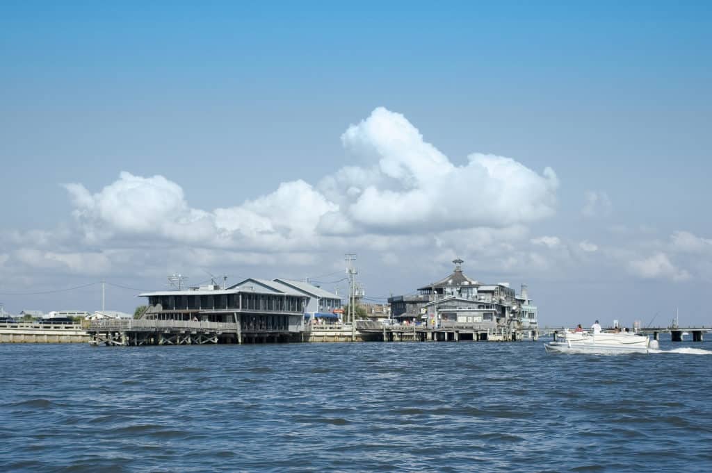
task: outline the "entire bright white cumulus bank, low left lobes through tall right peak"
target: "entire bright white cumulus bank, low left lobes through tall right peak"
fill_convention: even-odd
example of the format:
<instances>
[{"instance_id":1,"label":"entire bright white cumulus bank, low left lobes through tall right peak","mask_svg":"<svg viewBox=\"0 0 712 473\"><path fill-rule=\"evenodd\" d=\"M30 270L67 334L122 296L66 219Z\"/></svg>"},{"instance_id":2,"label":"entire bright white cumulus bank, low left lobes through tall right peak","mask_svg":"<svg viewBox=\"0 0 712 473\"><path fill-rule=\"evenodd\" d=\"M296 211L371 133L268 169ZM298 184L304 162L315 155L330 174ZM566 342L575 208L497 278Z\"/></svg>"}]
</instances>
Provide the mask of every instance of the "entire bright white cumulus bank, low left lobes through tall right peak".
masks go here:
<instances>
[{"instance_id":1,"label":"entire bright white cumulus bank, low left lobes through tall right peak","mask_svg":"<svg viewBox=\"0 0 712 473\"><path fill-rule=\"evenodd\" d=\"M283 182L239 205L191 208L164 176L122 172L91 193L65 184L89 243L162 238L212 248L293 251L352 235L513 228L555 211L556 174L537 174L503 156L471 154L456 166L400 114L377 108L348 127L342 143L359 166L313 187Z\"/></svg>"}]
</instances>

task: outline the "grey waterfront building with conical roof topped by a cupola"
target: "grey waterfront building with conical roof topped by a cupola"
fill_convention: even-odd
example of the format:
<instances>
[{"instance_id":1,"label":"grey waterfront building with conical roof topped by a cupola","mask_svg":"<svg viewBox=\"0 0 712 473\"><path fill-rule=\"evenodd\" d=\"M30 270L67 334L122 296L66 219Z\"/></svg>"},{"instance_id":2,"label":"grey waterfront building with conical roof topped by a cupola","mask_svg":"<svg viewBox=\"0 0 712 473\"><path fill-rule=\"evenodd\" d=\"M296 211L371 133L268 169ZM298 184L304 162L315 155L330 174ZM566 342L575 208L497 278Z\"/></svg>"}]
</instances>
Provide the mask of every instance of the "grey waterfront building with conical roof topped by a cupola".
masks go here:
<instances>
[{"instance_id":1,"label":"grey waterfront building with conical roof topped by a cupola","mask_svg":"<svg viewBox=\"0 0 712 473\"><path fill-rule=\"evenodd\" d=\"M390 297L394 319L430 328L470 326L505 337L537 329L537 308L526 285L517 295L508 282L483 284L464 274L463 260L453 263L450 275L419 287L417 295Z\"/></svg>"}]
</instances>

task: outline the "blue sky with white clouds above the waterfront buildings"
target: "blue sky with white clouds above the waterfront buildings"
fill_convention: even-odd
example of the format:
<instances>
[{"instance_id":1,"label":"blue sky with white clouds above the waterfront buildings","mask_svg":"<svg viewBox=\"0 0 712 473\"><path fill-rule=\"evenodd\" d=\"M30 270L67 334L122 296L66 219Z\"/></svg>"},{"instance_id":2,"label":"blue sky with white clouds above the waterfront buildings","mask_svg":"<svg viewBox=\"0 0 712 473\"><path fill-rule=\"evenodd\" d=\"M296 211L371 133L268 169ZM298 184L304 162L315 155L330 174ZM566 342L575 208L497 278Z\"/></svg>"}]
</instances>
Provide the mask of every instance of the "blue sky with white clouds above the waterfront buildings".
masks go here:
<instances>
[{"instance_id":1,"label":"blue sky with white clouds above the waterfront buildings","mask_svg":"<svg viewBox=\"0 0 712 473\"><path fill-rule=\"evenodd\" d=\"M385 5L383 4L385 3ZM712 326L706 2L0 4L0 302L167 276Z\"/></svg>"}]
</instances>

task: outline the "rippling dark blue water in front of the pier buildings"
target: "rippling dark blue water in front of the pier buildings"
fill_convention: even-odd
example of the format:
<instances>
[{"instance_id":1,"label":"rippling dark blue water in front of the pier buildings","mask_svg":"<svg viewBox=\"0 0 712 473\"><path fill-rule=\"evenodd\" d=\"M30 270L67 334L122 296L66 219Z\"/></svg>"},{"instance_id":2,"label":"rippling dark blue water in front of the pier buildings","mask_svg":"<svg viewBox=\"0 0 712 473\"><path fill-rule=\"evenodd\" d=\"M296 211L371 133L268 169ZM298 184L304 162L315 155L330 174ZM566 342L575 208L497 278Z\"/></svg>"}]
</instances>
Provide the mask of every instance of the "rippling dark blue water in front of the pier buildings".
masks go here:
<instances>
[{"instance_id":1,"label":"rippling dark blue water in front of the pier buildings","mask_svg":"<svg viewBox=\"0 0 712 473\"><path fill-rule=\"evenodd\" d=\"M681 347L712 351L661 343ZM0 469L712 471L711 366L542 341L0 344Z\"/></svg>"}]
</instances>

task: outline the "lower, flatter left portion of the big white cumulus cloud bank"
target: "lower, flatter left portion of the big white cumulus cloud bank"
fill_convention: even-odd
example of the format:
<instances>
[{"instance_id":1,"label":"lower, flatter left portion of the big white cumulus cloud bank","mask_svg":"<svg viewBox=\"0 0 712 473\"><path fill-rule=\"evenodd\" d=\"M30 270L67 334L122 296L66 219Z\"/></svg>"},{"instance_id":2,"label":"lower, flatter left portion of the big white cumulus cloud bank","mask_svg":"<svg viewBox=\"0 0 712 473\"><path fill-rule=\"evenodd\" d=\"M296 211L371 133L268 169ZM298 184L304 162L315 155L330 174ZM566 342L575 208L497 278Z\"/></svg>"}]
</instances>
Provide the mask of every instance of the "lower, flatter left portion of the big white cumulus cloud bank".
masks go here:
<instances>
[{"instance_id":1,"label":"lower, flatter left portion of the big white cumulus cloud bank","mask_svg":"<svg viewBox=\"0 0 712 473\"><path fill-rule=\"evenodd\" d=\"M337 209L301 180L283 183L241 206L214 211L190 208L182 188L163 176L122 172L95 194L81 184L65 187L90 243L138 235L214 247L286 248L290 242L308 241L320 217Z\"/></svg>"}]
</instances>

